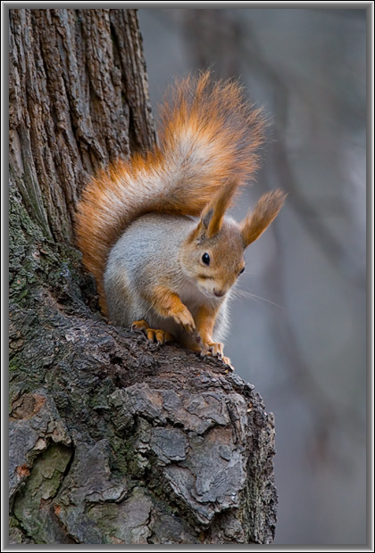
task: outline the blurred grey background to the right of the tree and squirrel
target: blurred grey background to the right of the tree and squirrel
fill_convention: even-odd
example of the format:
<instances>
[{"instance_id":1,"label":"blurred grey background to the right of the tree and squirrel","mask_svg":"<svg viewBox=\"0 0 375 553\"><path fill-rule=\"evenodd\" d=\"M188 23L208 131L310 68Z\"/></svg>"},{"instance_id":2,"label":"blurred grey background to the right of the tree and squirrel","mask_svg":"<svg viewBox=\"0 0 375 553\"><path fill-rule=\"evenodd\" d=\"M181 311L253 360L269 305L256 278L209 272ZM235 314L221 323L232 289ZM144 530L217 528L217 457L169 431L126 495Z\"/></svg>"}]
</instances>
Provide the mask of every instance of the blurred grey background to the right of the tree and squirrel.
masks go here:
<instances>
[{"instance_id":1,"label":"blurred grey background to the right of the tree and squirrel","mask_svg":"<svg viewBox=\"0 0 375 553\"><path fill-rule=\"evenodd\" d=\"M364 9L140 9L154 113L174 77L239 78L270 120L233 210L287 191L246 251L226 355L276 417L278 544L366 542Z\"/></svg>"}]
</instances>

